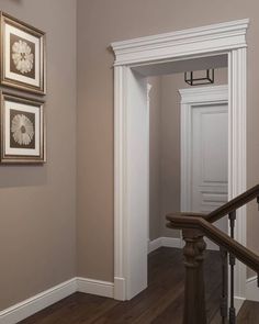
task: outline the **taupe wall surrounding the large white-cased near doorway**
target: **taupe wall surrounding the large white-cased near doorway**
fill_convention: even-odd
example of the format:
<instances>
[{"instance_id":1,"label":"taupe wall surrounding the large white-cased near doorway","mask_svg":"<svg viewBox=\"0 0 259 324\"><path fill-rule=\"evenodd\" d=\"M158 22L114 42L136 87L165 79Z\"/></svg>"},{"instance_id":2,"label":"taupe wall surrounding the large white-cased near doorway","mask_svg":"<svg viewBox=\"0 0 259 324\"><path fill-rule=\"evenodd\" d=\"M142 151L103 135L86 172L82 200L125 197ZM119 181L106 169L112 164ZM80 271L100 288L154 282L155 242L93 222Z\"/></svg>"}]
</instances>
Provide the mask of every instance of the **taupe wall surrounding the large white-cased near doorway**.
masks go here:
<instances>
[{"instance_id":1,"label":"taupe wall surrounding the large white-cased near doorway","mask_svg":"<svg viewBox=\"0 0 259 324\"><path fill-rule=\"evenodd\" d=\"M188 8L188 10L187 10ZM259 180L259 3L256 0L78 0L78 267L113 280L113 41L250 18L248 186ZM256 205L248 245L258 250Z\"/></svg>"}]
</instances>

